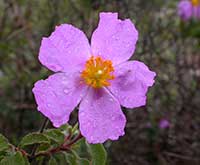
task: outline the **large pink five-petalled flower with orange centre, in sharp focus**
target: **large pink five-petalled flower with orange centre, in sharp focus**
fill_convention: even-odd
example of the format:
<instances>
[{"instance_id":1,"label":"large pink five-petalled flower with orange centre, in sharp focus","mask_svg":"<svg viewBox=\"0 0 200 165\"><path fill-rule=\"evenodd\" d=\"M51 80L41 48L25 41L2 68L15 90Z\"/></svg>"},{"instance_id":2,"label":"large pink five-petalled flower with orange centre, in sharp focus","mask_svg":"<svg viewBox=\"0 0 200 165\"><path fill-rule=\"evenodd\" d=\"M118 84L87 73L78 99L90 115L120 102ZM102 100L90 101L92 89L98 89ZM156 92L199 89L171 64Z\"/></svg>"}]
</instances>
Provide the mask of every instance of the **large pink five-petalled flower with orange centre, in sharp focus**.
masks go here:
<instances>
[{"instance_id":1,"label":"large pink five-petalled flower with orange centre, in sharp focus","mask_svg":"<svg viewBox=\"0 0 200 165\"><path fill-rule=\"evenodd\" d=\"M40 47L40 62L56 73L35 83L38 110L59 127L80 104L80 131L88 142L117 140L126 123L120 104L145 105L156 75L142 62L127 61L137 40L134 24L117 13L100 13L91 45L74 26L57 26Z\"/></svg>"}]
</instances>

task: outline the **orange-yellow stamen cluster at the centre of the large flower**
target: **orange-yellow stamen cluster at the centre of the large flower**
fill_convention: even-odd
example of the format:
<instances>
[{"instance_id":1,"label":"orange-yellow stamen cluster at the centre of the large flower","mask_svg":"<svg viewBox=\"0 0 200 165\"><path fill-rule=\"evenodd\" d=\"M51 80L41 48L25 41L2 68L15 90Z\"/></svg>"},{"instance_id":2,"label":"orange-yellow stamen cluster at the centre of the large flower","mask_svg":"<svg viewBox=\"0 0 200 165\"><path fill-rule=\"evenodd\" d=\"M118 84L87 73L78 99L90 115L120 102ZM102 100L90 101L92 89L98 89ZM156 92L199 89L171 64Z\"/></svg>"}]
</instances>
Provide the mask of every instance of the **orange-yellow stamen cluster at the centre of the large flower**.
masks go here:
<instances>
[{"instance_id":1,"label":"orange-yellow stamen cluster at the centre of the large flower","mask_svg":"<svg viewBox=\"0 0 200 165\"><path fill-rule=\"evenodd\" d=\"M93 88L109 86L113 75L114 68L110 60L104 60L101 57L90 57L85 64L85 69L81 72L81 77L85 83Z\"/></svg>"}]
</instances>

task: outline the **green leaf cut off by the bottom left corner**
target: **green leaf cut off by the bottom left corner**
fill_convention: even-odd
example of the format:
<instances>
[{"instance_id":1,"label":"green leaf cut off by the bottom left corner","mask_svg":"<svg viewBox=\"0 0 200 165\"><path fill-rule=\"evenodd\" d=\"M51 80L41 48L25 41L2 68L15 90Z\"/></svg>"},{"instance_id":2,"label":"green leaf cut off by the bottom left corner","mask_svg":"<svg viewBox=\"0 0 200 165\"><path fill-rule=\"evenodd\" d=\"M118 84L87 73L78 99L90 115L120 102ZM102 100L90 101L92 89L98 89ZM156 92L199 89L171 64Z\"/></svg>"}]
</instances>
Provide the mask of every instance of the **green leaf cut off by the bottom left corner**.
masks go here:
<instances>
[{"instance_id":1,"label":"green leaf cut off by the bottom left corner","mask_svg":"<svg viewBox=\"0 0 200 165\"><path fill-rule=\"evenodd\" d=\"M0 165L27 165L29 164L26 159L22 156L20 152L15 153L14 155L6 156L1 162Z\"/></svg>"}]
</instances>

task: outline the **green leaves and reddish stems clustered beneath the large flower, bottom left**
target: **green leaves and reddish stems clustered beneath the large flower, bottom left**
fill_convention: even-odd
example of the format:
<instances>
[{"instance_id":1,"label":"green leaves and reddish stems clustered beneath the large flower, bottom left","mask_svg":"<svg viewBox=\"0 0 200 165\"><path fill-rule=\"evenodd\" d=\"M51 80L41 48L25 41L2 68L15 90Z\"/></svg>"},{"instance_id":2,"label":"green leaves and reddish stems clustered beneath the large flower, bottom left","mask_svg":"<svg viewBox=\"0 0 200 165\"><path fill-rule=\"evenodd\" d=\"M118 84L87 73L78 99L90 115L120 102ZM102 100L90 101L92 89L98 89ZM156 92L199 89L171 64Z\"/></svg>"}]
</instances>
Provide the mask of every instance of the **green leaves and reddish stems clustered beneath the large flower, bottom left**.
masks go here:
<instances>
[{"instance_id":1,"label":"green leaves and reddish stems clustered beneath the large flower, bottom left","mask_svg":"<svg viewBox=\"0 0 200 165\"><path fill-rule=\"evenodd\" d=\"M18 147L0 135L0 147L0 165L28 165L32 160L33 164L105 165L107 158L102 144L88 144L80 136L78 124L30 133L22 138Z\"/></svg>"}]
</instances>

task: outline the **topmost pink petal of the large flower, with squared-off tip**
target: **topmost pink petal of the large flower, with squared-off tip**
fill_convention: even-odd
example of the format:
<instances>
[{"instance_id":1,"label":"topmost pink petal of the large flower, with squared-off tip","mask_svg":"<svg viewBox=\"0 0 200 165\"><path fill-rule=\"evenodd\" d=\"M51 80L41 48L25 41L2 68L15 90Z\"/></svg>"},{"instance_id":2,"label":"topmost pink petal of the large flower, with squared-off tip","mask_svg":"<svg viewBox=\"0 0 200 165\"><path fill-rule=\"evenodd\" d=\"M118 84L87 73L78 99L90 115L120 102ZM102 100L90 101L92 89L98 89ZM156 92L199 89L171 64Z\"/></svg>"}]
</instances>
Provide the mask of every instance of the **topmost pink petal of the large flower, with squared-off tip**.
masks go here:
<instances>
[{"instance_id":1,"label":"topmost pink petal of the large flower, with squared-off tip","mask_svg":"<svg viewBox=\"0 0 200 165\"><path fill-rule=\"evenodd\" d=\"M127 61L134 53L138 31L130 19L120 20L117 13L100 13L91 40L93 55L111 60L114 65Z\"/></svg>"}]
</instances>

